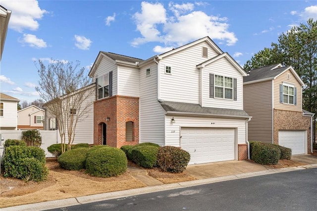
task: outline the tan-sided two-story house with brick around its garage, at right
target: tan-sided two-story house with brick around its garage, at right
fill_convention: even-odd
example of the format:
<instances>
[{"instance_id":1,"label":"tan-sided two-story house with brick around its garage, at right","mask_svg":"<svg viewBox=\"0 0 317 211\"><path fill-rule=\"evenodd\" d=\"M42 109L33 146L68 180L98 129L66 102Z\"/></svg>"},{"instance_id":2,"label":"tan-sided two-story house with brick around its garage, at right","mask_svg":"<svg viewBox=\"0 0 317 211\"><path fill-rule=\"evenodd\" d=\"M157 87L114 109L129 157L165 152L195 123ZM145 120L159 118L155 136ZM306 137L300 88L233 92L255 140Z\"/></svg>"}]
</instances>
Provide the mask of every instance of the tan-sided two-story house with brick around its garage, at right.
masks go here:
<instances>
[{"instance_id":1,"label":"tan-sided two-story house with brick around its garage, at right","mask_svg":"<svg viewBox=\"0 0 317 211\"><path fill-rule=\"evenodd\" d=\"M273 64L244 77L244 109L252 115L249 141L274 143L293 155L312 152L314 113L302 109L302 79L292 66Z\"/></svg>"}]
</instances>

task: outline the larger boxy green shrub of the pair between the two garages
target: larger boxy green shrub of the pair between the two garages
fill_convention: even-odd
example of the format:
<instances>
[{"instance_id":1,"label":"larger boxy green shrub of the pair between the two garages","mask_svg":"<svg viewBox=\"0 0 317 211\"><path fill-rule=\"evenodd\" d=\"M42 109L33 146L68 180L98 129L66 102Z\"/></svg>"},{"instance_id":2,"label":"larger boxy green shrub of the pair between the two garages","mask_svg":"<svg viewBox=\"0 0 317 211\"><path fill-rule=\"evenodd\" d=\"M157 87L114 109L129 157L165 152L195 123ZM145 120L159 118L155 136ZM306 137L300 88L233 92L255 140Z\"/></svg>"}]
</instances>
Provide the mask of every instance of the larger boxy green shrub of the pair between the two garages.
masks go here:
<instances>
[{"instance_id":1,"label":"larger boxy green shrub of the pair between the two garages","mask_svg":"<svg viewBox=\"0 0 317 211\"><path fill-rule=\"evenodd\" d=\"M279 147L273 144L262 143L262 142L250 142L251 159L257 163L266 164L277 164L281 158L281 151Z\"/></svg>"}]
</instances>

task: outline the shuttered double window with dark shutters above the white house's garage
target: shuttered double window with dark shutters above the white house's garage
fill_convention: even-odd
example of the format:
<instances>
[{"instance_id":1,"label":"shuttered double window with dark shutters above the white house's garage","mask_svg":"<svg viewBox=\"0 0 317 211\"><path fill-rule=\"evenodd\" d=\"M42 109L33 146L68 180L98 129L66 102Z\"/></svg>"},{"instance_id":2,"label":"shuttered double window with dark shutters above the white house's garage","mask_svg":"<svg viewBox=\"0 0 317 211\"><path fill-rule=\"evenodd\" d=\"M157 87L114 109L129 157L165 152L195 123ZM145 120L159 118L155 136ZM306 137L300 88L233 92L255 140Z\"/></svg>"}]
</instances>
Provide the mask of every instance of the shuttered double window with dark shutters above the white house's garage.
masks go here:
<instances>
[{"instance_id":1,"label":"shuttered double window with dark shutters above the white house's garage","mask_svg":"<svg viewBox=\"0 0 317 211\"><path fill-rule=\"evenodd\" d=\"M237 79L222 75L209 74L209 97L237 100Z\"/></svg>"}]
</instances>

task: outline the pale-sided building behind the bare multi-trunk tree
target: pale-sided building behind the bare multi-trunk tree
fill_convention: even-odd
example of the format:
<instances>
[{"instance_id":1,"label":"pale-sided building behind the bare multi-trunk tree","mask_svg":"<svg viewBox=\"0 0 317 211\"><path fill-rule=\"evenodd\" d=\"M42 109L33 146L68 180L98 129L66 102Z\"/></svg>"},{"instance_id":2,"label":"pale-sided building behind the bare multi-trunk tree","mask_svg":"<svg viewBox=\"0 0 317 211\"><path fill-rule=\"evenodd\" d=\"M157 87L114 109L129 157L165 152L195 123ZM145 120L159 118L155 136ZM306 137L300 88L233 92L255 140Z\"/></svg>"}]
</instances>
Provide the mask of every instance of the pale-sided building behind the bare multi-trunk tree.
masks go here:
<instances>
[{"instance_id":1,"label":"pale-sided building behind the bare multi-trunk tree","mask_svg":"<svg viewBox=\"0 0 317 211\"><path fill-rule=\"evenodd\" d=\"M82 104L79 105L76 103L75 105L71 106L72 104L68 101L69 99L71 100L76 99L76 93L78 92L84 92L84 98L85 100L82 101ZM79 95L77 95L79 96ZM88 97L87 97L88 96ZM87 97L87 98L86 98ZM57 100L57 99L54 99ZM54 101L53 100L53 101ZM58 98L58 100L61 100L63 103L63 108L61 109L61 112L69 112L70 114L73 115L79 115L81 113L81 110L85 109L84 114L79 117L79 120L77 122L75 131L74 131L74 139L73 139L73 144L79 144L79 143L88 143L88 144L93 144L93 135L94 135L94 107L93 107L93 101L95 100L95 83L83 87L79 90L76 90L72 92L69 95L64 95ZM78 102L78 101L77 101ZM58 130L57 128L57 120L55 116L52 115L50 112L50 106L52 106L52 101L47 102L43 105L44 110L45 110L45 120L44 120L44 130ZM76 106L76 107L75 107ZM66 116L67 115L63 115ZM70 118L70 116L68 116ZM75 117L76 118L76 117ZM66 119L64 119L67 121ZM67 130L67 129L66 129ZM59 134L57 135L57 140L60 141ZM67 131L65 133L66 136L66 143L68 143L68 135Z\"/></svg>"}]
</instances>

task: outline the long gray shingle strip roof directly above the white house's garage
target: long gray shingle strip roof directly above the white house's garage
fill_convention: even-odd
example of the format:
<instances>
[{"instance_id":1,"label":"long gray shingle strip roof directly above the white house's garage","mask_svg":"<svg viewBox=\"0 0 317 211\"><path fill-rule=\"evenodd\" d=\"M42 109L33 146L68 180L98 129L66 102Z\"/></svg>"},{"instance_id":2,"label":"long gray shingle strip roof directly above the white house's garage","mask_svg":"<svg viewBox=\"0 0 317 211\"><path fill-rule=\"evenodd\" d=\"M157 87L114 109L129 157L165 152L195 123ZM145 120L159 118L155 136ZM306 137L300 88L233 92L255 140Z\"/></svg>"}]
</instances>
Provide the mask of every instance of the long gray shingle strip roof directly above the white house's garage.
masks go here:
<instances>
[{"instance_id":1,"label":"long gray shingle strip roof directly above the white house's garage","mask_svg":"<svg viewBox=\"0 0 317 211\"><path fill-rule=\"evenodd\" d=\"M214 107L202 107L199 104L188 104L164 101L159 102L163 109L167 112L182 112L191 113L197 115L210 115L210 116L231 116L231 117L250 117L244 110L238 109L226 109L226 108L214 108Z\"/></svg>"}]
</instances>

